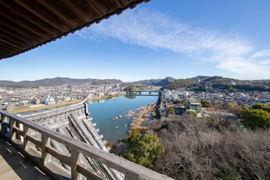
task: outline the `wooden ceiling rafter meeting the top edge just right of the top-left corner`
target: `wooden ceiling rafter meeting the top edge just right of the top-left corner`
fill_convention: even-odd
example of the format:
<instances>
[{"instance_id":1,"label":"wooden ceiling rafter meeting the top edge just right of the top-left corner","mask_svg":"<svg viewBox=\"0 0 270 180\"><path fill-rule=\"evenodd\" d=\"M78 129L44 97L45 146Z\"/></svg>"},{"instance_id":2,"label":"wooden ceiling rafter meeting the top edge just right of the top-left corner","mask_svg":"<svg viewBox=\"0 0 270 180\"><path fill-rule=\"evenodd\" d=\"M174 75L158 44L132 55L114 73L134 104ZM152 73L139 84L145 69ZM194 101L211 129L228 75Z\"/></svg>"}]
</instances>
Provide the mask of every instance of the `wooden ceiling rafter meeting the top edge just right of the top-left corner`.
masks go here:
<instances>
[{"instance_id":1,"label":"wooden ceiling rafter meeting the top edge just right of the top-left corner","mask_svg":"<svg viewBox=\"0 0 270 180\"><path fill-rule=\"evenodd\" d=\"M65 32L66 26L62 25L61 23L57 22L52 16L50 16L48 13L46 13L44 10L42 10L37 5L31 3L30 1L25 0L14 0L17 3L21 4L26 9L30 10L32 13L39 16L44 21L48 22L52 26L54 26L56 29L58 29L60 32Z\"/></svg>"}]
</instances>

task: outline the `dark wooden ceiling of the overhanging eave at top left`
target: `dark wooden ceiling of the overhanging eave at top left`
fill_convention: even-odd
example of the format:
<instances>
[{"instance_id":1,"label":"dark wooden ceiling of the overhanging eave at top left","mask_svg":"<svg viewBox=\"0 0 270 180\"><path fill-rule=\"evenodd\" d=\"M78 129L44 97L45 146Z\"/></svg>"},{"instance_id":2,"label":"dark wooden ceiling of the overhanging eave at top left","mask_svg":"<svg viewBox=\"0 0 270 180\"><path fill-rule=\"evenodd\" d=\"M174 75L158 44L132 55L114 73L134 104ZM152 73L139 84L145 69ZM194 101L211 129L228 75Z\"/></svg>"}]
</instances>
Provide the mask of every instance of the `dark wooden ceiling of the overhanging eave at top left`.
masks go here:
<instances>
[{"instance_id":1,"label":"dark wooden ceiling of the overhanging eave at top left","mask_svg":"<svg viewBox=\"0 0 270 180\"><path fill-rule=\"evenodd\" d=\"M0 0L0 60L151 0Z\"/></svg>"}]
</instances>

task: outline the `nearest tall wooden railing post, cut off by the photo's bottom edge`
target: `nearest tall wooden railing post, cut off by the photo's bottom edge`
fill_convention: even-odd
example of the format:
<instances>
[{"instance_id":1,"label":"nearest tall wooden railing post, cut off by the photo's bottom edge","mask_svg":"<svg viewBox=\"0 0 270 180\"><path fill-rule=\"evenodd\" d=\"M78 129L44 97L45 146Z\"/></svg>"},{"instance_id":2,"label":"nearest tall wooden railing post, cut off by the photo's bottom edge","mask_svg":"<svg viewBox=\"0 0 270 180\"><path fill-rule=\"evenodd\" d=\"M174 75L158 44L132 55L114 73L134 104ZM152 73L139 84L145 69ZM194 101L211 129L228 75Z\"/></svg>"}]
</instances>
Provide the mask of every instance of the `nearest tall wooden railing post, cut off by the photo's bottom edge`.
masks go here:
<instances>
[{"instance_id":1,"label":"nearest tall wooden railing post, cut off by the photo's bottom edge","mask_svg":"<svg viewBox=\"0 0 270 180\"><path fill-rule=\"evenodd\" d=\"M81 161L81 153L76 149L71 148L71 180L81 180L81 174L77 171L77 163Z\"/></svg>"}]
</instances>

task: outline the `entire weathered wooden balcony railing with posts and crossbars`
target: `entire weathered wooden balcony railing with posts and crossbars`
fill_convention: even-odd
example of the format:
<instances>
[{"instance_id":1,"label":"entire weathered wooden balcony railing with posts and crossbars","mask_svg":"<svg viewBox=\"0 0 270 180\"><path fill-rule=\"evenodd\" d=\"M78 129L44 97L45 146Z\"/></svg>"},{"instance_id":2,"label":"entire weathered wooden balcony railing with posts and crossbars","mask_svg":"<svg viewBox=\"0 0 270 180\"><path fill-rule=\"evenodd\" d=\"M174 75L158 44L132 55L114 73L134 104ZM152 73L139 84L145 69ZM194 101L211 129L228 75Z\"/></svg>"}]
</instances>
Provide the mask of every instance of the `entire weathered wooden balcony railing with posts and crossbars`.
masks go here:
<instances>
[{"instance_id":1,"label":"entire weathered wooden balcony railing with posts and crossbars","mask_svg":"<svg viewBox=\"0 0 270 180\"><path fill-rule=\"evenodd\" d=\"M2 135L5 135L13 145L17 146L24 154L32 158L32 160L55 179L78 180L81 179L81 175L83 175L88 179L108 180L106 177L82 164L80 156L86 155L108 167L122 172L125 175L125 180L173 180L168 176L159 174L79 140L70 138L57 131L37 125L19 116L7 113L3 110L0 110L0 114ZM7 123L7 118L9 118L9 123ZM9 132L7 128L10 129ZM30 134L30 129L41 133L41 141ZM50 146L50 139L69 147L71 157L66 156ZM31 148L31 142L41 148L41 153ZM70 166L71 172L60 168L56 163L51 161L51 155Z\"/></svg>"}]
</instances>

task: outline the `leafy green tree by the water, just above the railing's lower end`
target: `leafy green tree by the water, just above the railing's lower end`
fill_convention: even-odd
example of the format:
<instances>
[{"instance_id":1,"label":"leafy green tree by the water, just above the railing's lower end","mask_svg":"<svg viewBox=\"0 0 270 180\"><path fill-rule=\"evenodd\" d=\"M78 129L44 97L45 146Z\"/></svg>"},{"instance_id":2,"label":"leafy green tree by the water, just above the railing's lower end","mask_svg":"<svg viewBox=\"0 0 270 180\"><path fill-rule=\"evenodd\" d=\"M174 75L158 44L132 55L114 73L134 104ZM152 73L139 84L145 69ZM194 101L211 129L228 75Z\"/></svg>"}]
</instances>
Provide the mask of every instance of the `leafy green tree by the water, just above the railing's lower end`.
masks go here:
<instances>
[{"instance_id":1,"label":"leafy green tree by the water, just above the railing's lower end","mask_svg":"<svg viewBox=\"0 0 270 180\"><path fill-rule=\"evenodd\" d=\"M128 138L128 153L119 156L144 167L152 167L156 157L163 154L163 145L158 145L157 134L132 134Z\"/></svg>"}]
</instances>

